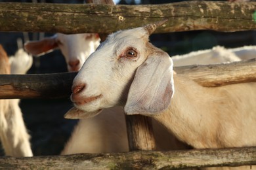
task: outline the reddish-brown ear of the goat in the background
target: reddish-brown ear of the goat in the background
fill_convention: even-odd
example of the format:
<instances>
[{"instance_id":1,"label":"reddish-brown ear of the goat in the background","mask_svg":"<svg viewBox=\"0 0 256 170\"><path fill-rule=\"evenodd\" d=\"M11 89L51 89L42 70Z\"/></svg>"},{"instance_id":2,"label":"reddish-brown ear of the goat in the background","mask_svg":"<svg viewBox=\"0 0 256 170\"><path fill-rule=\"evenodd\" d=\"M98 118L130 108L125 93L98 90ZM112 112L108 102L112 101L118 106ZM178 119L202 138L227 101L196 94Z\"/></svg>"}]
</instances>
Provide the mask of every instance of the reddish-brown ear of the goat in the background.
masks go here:
<instances>
[{"instance_id":1,"label":"reddish-brown ear of the goat in the background","mask_svg":"<svg viewBox=\"0 0 256 170\"><path fill-rule=\"evenodd\" d=\"M33 56L41 56L51 52L54 48L58 48L58 43L56 42L56 36L53 36L44 38L40 41L26 42L24 48Z\"/></svg>"}]
</instances>

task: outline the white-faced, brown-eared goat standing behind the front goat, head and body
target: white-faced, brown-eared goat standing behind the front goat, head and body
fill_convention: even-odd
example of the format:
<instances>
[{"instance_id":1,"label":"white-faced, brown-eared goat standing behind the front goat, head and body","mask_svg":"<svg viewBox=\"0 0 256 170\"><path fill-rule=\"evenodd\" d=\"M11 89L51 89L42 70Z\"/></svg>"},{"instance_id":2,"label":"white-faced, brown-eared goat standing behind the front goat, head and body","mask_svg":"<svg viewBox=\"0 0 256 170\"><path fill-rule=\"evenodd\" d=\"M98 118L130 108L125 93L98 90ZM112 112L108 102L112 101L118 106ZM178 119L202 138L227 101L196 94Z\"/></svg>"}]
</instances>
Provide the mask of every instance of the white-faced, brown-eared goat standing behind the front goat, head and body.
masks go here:
<instances>
[{"instance_id":1,"label":"white-faced, brown-eared goat standing behind the front goat, head and body","mask_svg":"<svg viewBox=\"0 0 256 170\"><path fill-rule=\"evenodd\" d=\"M62 54L64 54L64 57L66 58L69 71L76 71L77 69L80 69L82 65L82 60L79 59L79 55L77 54L86 54L84 55L86 56L84 60L86 60L89 54L96 49L96 44L99 41L97 38L97 36L91 34L63 35L58 33L53 37L45 38L42 41L28 42L25 44L25 47L32 54L40 54L49 52L49 50L53 50L54 48L60 48ZM92 45L90 46L88 44ZM84 52L81 52L81 50ZM203 51L203 54L208 51L209 50ZM223 52L222 49L217 47L216 49L213 48L210 50L210 52L204 56L200 56L202 52L194 52L193 54L198 55L190 55L193 56L190 58L192 61L186 57L188 55L184 55L179 56L179 58L177 57L177 59L175 58L174 63L177 63L177 65L186 65L186 63L194 64L198 62L200 63L200 61L204 61L205 63L216 63L238 60L232 52L228 52L227 50L224 50ZM79 60L80 64L71 67L70 61L72 60ZM153 126L154 131L156 131L154 135L156 137L157 150L185 148L183 144L176 141L174 137L171 137L171 134L167 133L165 128L161 127L158 122L153 121ZM106 135L106 133L108 133L108 135ZM79 120L72 133L72 137L70 137L68 143L64 147L62 154L75 154L80 152L125 152L128 151L127 136L125 133L126 127L123 110L118 107L104 109L102 114L94 118L89 120ZM118 144L113 143L113 141L116 141Z\"/></svg>"}]
</instances>

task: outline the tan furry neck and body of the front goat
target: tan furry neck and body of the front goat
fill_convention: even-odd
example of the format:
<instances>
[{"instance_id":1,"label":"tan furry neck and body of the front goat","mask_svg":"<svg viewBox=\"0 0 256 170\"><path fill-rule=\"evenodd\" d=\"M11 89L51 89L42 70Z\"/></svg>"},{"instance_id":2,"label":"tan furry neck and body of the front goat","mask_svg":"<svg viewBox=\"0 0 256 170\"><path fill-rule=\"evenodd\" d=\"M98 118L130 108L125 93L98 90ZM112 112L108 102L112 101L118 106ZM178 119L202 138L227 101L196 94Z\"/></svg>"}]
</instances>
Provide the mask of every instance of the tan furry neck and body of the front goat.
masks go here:
<instances>
[{"instance_id":1,"label":"tan furry neck and body of the front goat","mask_svg":"<svg viewBox=\"0 0 256 170\"><path fill-rule=\"evenodd\" d=\"M194 148L256 146L255 82L203 88L188 77L174 80L169 109L154 118L179 139Z\"/></svg>"}]
</instances>

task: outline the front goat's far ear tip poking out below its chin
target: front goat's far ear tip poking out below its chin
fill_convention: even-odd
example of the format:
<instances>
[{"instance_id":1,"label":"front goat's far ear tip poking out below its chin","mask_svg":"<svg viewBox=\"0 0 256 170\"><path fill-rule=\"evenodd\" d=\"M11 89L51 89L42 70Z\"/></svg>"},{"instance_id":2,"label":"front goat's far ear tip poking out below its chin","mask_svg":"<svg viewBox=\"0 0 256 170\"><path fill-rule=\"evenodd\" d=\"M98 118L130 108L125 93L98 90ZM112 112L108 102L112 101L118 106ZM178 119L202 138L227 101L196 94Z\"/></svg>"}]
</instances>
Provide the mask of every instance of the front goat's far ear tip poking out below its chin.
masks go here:
<instances>
[{"instance_id":1,"label":"front goat's far ear tip poking out below its chin","mask_svg":"<svg viewBox=\"0 0 256 170\"><path fill-rule=\"evenodd\" d=\"M68 110L66 114L64 115L64 118L68 119L83 119L83 118L92 118L99 114L101 110L97 110L95 112L85 112L83 110L79 110L75 107L72 107L72 109Z\"/></svg>"}]
</instances>

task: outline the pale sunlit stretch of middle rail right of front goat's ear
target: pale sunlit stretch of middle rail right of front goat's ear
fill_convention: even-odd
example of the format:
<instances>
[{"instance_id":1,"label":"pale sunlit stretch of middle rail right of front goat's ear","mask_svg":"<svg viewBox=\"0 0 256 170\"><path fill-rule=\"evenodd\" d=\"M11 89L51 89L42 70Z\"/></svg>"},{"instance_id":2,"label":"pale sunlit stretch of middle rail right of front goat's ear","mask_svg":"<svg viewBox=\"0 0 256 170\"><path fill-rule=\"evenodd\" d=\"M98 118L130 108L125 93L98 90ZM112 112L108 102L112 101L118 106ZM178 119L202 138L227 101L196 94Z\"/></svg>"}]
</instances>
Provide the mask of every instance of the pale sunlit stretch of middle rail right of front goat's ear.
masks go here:
<instances>
[{"instance_id":1,"label":"pale sunlit stretch of middle rail right of front goat's ear","mask_svg":"<svg viewBox=\"0 0 256 170\"><path fill-rule=\"evenodd\" d=\"M205 87L256 81L256 59L217 65L182 66L174 70Z\"/></svg>"}]
</instances>

